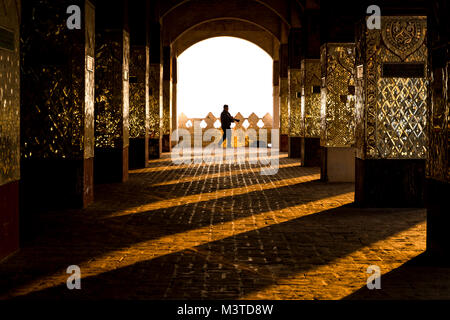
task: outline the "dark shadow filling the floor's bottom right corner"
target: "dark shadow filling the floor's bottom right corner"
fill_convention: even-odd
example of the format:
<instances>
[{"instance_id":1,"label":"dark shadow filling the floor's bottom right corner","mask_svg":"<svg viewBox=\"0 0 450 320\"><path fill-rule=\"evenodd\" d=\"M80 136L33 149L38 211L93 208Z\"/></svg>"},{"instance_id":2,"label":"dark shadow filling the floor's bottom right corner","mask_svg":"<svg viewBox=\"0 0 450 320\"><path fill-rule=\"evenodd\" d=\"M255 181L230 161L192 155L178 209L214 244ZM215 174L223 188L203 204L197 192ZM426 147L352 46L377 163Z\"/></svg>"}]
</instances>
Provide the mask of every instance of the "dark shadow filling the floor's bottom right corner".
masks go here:
<instances>
[{"instance_id":1,"label":"dark shadow filling the floor's bottom right corner","mask_svg":"<svg viewBox=\"0 0 450 320\"><path fill-rule=\"evenodd\" d=\"M450 264L441 264L427 253L381 275L381 289L362 287L346 300L450 299Z\"/></svg>"}]
</instances>

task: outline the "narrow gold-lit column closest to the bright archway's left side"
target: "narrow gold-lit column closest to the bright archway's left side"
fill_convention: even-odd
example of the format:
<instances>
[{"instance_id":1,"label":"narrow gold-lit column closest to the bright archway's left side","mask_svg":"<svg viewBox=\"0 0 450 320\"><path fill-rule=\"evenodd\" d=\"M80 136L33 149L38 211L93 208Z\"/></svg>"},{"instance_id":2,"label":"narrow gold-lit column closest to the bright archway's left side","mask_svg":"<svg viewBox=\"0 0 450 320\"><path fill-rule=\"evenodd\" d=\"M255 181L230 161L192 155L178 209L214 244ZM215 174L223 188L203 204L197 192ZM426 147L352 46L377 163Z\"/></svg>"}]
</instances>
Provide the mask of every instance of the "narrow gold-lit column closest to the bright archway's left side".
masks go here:
<instances>
[{"instance_id":1,"label":"narrow gold-lit column closest to the bright archway's left side","mask_svg":"<svg viewBox=\"0 0 450 320\"><path fill-rule=\"evenodd\" d=\"M162 66L162 89L160 92L160 103L162 106L161 118L161 146L162 152L170 152L171 150L171 134L172 134L172 58L170 47L163 48L163 66Z\"/></svg>"}]
</instances>

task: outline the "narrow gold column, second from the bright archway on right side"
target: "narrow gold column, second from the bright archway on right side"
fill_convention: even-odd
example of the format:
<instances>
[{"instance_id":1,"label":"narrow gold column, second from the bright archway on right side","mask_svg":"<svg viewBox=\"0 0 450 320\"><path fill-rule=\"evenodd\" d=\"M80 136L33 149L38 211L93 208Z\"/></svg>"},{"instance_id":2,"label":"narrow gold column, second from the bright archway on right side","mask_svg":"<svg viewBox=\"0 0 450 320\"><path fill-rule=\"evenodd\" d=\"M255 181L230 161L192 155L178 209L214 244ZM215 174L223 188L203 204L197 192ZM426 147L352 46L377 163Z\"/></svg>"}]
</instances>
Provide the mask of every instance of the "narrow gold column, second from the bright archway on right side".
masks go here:
<instances>
[{"instance_id":1,"label":"narrow gold column, second from the bright archway on right side","mask_svg":"<svg viewBox=\"0 0 450 320\"><path fill-rule=\"evenodd\" d=\"M301 113L301 84L300 84L300 61L301 61L301 40L302 32L300 28L291 28L289 32L289 157L301 157L301 135L300 123Z\"/></svg>"}]
</instances>

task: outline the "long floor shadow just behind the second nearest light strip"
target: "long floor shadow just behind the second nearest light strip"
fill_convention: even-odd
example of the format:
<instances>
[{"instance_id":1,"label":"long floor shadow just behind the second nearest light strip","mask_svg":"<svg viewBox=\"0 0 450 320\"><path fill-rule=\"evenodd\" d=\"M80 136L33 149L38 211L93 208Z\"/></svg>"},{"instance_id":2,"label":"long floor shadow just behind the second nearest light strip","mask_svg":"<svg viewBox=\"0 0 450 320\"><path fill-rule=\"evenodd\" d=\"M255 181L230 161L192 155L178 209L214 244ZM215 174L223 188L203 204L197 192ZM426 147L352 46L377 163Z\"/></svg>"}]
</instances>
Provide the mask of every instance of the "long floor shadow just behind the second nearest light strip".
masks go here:
<instances>
[{"instance_id":1,"label":"long floor shadow just behind the second nearest light strip","mask_svg":"<svg viewBox=\"0 0 450 320\"><path fill-rule=\"evenodd\" d=\"M339 186L310 181L108 219L95 210L48 215L37 222L41 236L0 264L0 294L136 243L353 191L352 184Z\"/></svg>"}]
</instances>

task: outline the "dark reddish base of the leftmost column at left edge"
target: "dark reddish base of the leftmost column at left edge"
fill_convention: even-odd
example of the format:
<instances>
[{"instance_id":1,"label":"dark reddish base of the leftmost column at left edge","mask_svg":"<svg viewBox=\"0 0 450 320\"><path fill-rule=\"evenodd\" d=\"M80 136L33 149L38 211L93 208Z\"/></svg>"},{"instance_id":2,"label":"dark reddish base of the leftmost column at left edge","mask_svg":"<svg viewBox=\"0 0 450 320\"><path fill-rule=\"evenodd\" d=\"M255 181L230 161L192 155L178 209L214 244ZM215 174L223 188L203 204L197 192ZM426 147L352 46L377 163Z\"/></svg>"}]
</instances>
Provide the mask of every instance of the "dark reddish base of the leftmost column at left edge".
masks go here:
<instances>
[{"instance_id":1,"label":"dark reddish base of the leftmost column at left edge","mask_svg":"<svg viewBox=\"0 0 450 320\"><path fill-rule=\"evenodd\" d=\"M0 186L0 261L19 250L19 181Z\"/></svg>"}]
</instances>

